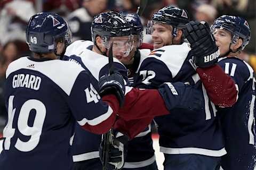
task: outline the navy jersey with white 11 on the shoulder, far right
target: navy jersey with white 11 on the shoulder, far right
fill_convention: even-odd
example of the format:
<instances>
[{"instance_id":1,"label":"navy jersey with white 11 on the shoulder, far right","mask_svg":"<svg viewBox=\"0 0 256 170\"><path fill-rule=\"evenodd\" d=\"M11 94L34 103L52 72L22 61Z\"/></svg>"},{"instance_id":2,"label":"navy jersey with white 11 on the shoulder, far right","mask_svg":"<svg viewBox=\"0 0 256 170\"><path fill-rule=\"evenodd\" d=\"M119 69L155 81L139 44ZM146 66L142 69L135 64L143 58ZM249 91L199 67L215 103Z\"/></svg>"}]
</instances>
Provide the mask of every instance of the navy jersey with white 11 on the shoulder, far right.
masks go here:
<instances>
[{"instance_id":1,"label":"navy jersey with white 11 on the shoulder, far right","mask_svg":"<svg viewBox=\"0 0 256 170\"><path fill-rule=\"evenodd\" d=\"M225 170L253 170L255 146L255 78L252 67L236 57L221 58L219 65L236 83L238 99L231 108L220 108L227 155L221 159Z\"/></svg>"}]
</instances>

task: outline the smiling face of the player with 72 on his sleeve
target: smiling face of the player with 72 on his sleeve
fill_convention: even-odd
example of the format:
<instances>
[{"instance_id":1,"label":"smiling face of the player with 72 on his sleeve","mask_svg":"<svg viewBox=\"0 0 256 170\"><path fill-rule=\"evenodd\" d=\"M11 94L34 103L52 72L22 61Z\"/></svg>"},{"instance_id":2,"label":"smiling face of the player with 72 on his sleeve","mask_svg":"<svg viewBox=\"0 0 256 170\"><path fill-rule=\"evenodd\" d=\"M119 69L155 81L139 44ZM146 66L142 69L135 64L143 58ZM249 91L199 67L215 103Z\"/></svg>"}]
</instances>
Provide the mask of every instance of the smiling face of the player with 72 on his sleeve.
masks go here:
<instances>
[{"instance_id":1,"label":"smiling face of the player with 72 on his sleeve","mask_svg":"<svg viewBox=\"0 0 256 170\"><path fill-rule=\"evenodd\" d=\"M154 41L154 49L172 45L171 25L155 23L153 25L152 38Z\"/></svg>"}]
</instances>

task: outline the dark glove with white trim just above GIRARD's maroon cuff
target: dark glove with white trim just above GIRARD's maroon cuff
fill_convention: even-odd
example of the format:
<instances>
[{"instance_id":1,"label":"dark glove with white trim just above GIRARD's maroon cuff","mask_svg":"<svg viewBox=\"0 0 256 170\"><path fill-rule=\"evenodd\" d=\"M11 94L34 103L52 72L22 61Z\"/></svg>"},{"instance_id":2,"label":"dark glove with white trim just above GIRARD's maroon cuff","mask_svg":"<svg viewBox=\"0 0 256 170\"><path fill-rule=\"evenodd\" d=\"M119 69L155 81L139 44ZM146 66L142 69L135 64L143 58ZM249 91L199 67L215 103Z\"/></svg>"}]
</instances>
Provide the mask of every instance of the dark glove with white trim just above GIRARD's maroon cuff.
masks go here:
<instances>
[{"instance_id":1,"label":"dark glove with white trim just above GIRARD's maroon cuff","mask_svg":"<svg viewBox=\"0 0 256 170\"><path fill-rule=\"evenodd\" d=\"M115 72L111 75L103 75L99 80L100 96L113 94L119 101L119 106L124 104L125 84L121 74Z\"/></svg>"}]
</instances>

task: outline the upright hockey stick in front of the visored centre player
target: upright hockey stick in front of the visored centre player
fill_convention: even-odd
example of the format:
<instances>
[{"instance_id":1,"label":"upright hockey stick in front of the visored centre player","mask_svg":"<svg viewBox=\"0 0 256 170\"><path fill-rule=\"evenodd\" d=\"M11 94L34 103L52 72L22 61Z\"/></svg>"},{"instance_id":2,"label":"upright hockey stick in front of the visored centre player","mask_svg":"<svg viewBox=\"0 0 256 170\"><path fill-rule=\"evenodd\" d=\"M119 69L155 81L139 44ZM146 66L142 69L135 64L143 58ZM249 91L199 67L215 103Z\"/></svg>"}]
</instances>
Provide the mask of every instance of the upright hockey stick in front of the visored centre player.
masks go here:
<instances>
[{"instance_id":1,"label":"upright hockey stick in front of the visored centre player","mask_svg":"<svg viewBox=\"0 0 256 170\"><path fill-rule=\"evenodd\" d=\"M113 43L110 45L108 52L108 66L109 66L109 75L114 74L114 65L113 65ZM108 163L108 152L110 146L113 144L113 128L111 128L107 133L103 134L104 147L103 147L103 158L102 158L102 170L107 169Z\"/></svg>"}]
</instances>

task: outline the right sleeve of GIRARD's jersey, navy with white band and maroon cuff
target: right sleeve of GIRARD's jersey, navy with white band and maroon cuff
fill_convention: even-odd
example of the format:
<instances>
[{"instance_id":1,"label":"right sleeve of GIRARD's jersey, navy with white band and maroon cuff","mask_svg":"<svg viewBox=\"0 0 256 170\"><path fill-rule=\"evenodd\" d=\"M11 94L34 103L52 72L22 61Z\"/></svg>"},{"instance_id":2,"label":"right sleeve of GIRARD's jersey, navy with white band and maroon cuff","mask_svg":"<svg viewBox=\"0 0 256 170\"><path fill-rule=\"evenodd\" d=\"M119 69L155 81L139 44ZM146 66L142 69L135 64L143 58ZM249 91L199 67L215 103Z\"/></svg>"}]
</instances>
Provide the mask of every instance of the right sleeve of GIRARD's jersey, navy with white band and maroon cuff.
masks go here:
<instances>
[{"instance_id":1,"label":"right sleeve of GIRARD's jersey, navy with white band and maroon cuff","mask_svg":"<svg viewBox=\"0 0 256 170\"><path fill-rule=\"evenodd\" d=\"M86 71L79 73L68 97L78 124L92 133L105 133L113 126L119 103L114 95L102 101Z\"/></svg>"}]
</instances>

